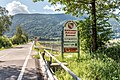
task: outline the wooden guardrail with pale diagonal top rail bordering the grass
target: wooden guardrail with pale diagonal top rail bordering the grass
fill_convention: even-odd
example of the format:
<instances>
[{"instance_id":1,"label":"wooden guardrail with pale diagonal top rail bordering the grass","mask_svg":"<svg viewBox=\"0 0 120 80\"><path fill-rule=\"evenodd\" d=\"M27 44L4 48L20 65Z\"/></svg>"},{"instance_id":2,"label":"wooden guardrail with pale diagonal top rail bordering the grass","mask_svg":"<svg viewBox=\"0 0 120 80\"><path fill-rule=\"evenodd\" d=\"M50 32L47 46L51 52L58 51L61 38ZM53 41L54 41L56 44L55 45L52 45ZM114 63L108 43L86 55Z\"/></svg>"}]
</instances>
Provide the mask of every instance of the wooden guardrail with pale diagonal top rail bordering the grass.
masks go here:
<instances>
[{"instance_id":1,"label":"wooden guardrail with pale diagonal top rail bordering the grass","mask_svg":"<svg viewBox=\"0 0 120 80\"><path fill-rule=\"evenodd\" d=\"M65 71L67 71L75 80L81 80L79 77L76 76L69 68L67 68L65 65L63 65L59 60L57 60L52 54L50 54L46 49L44 49L44 52L41 54L41 58L45 61L45 55L50 57L50 62L46 66L50 67L50 64L52 64L52 59L54 59ZM45 61L46 62L46 61ZM50 71L49 71L50 72ZM50 74L49 77L51 77L50 80L55 80L52 79L52 75Z\"/></svg>"}]
</instances>

